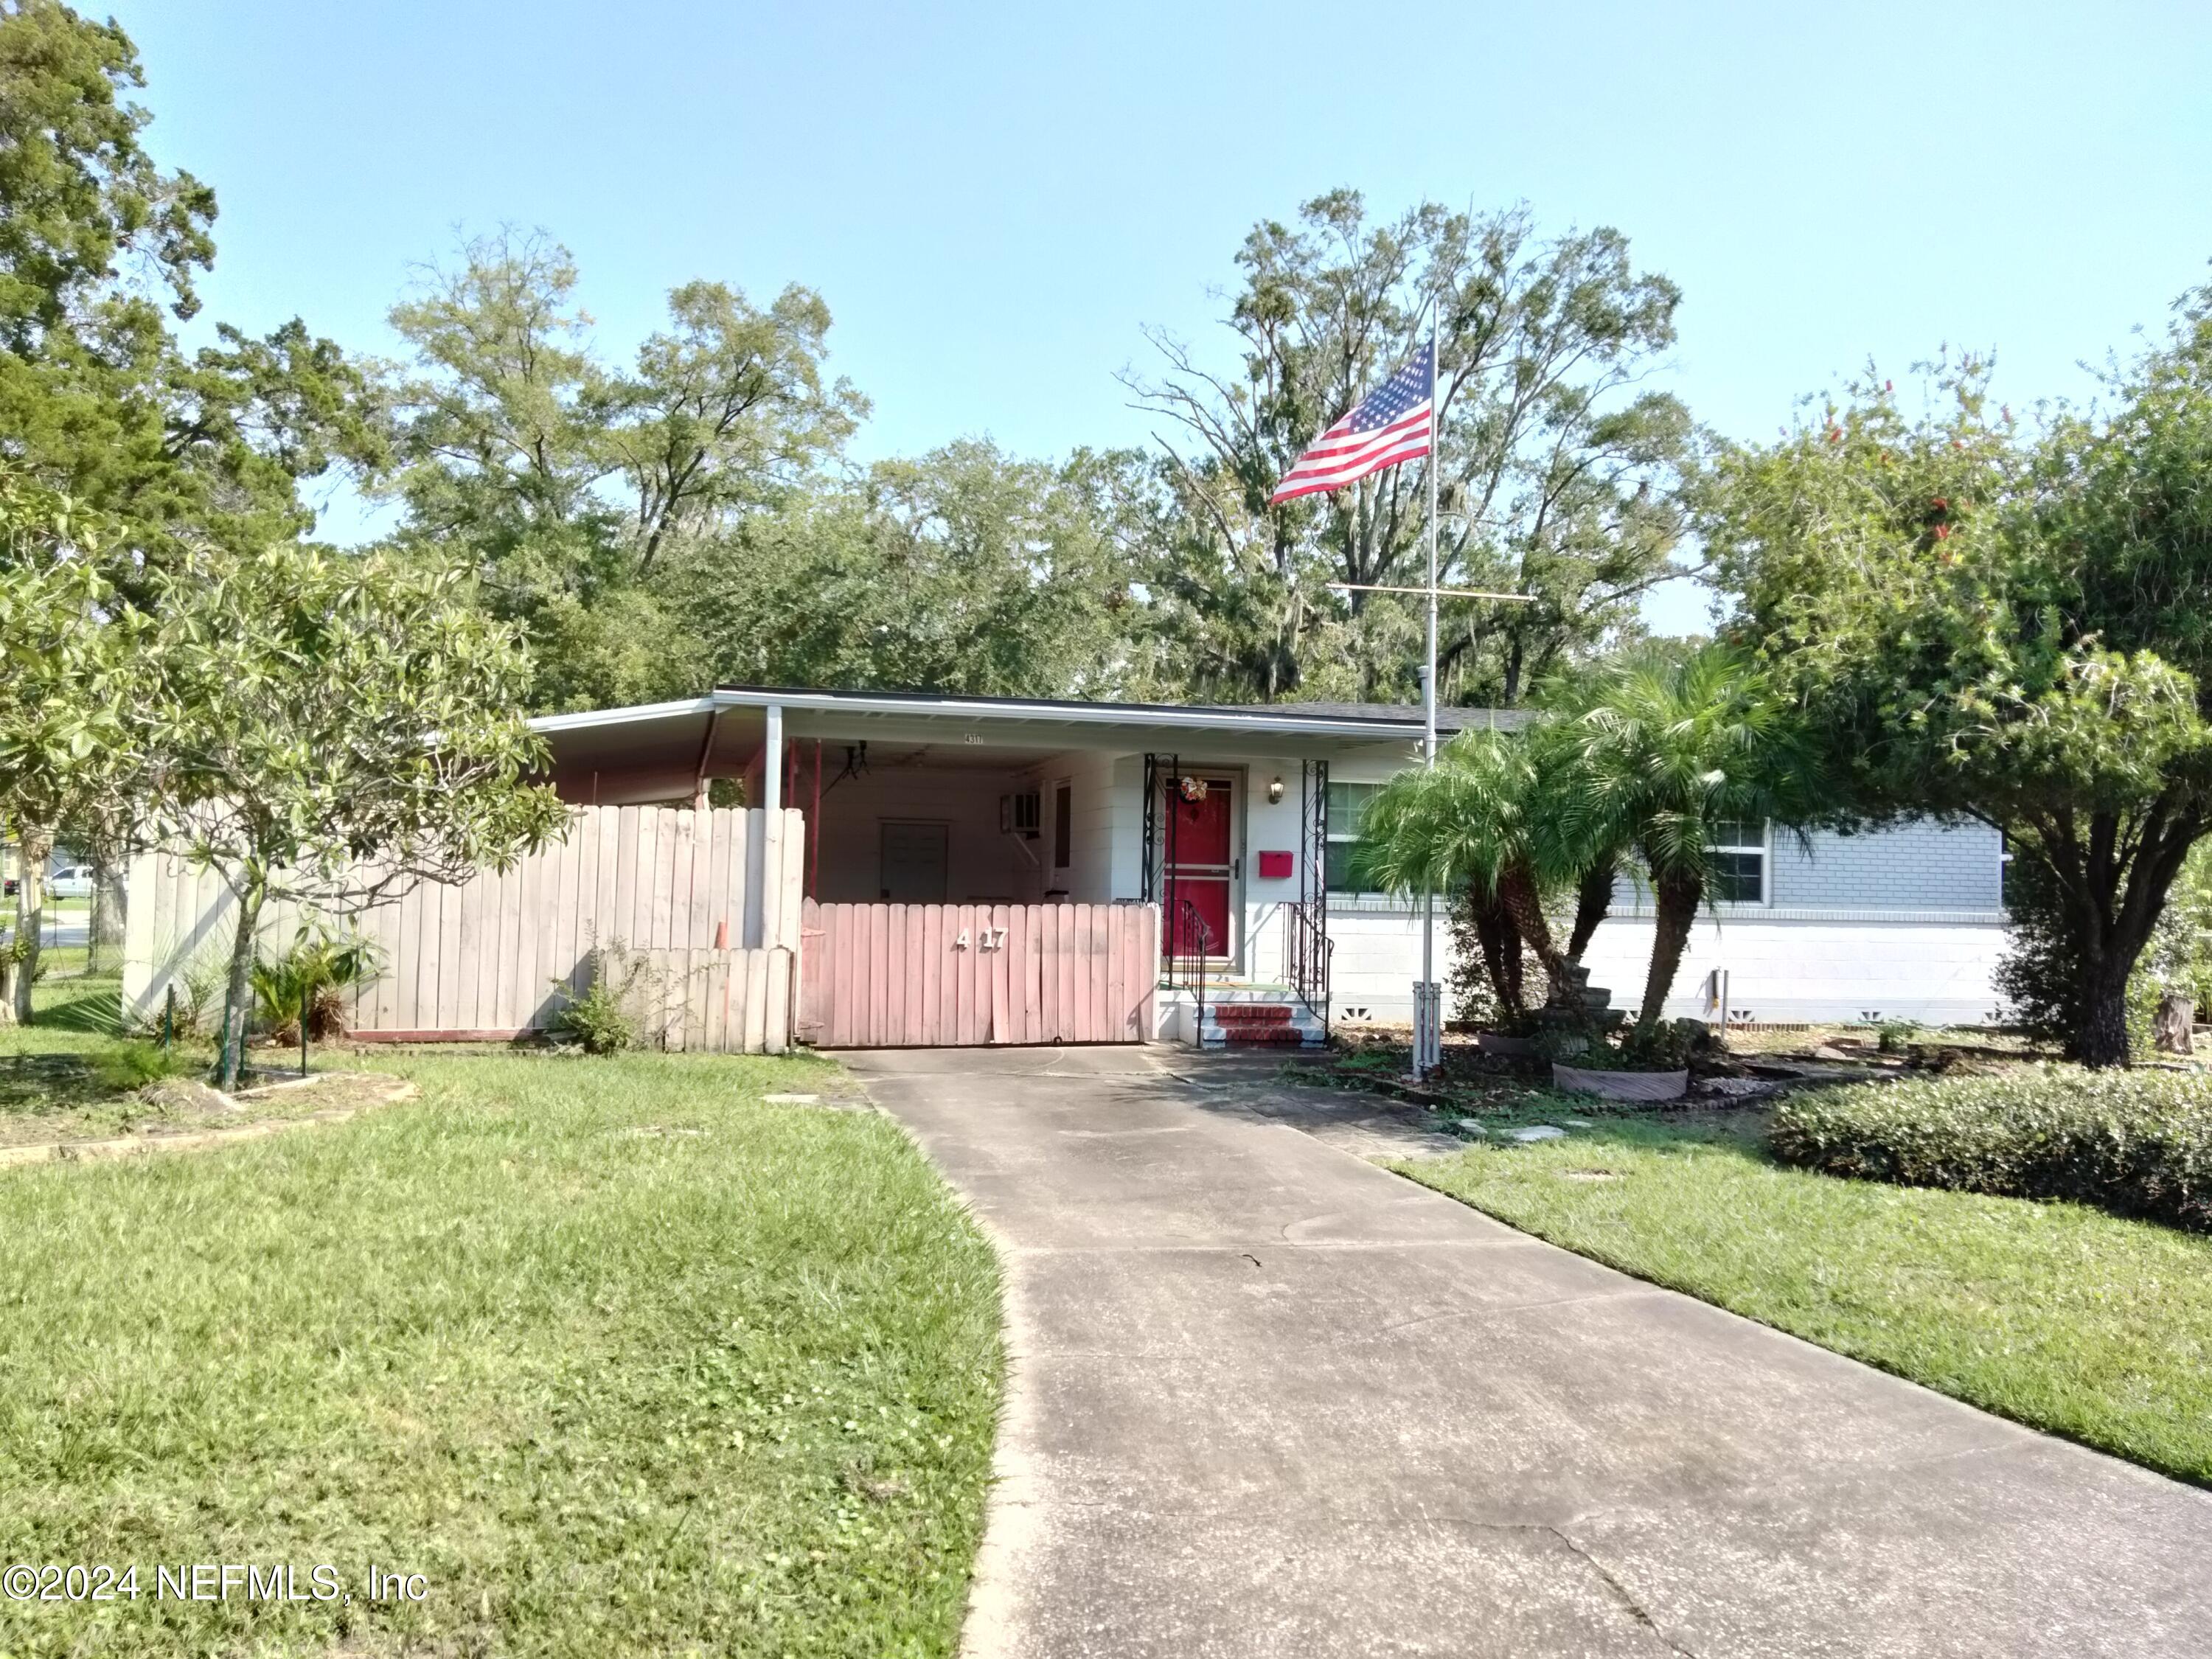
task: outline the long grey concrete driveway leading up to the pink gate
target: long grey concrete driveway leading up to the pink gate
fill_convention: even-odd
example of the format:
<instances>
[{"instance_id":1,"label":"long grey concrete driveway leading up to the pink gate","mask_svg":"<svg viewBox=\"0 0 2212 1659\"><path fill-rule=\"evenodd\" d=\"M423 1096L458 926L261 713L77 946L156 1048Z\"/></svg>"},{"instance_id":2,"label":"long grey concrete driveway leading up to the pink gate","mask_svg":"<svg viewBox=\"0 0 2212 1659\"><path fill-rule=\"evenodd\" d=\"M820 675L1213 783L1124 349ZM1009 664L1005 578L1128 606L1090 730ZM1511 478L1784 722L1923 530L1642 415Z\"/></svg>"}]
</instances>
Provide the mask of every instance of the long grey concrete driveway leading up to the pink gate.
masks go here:
<instances>
[{"instance_id":1,"label":"long grey concrete driveway leading up to the pink gate","mask_svg":"<svg viewBox=\"0 0 2212 1659\"><path fill-rule=\"evenodd\" d=\"M1332 1146L1371 1104L847 1060L1006 1263L971 1655L2212 1655L2212 1495Z\"/></svg>"}]
</instances>

